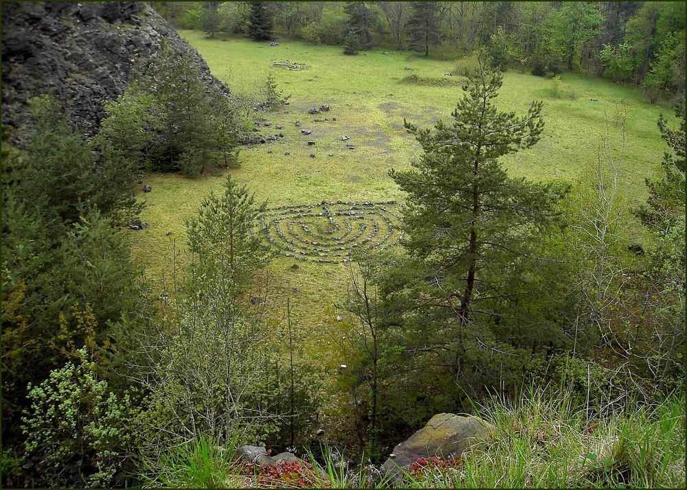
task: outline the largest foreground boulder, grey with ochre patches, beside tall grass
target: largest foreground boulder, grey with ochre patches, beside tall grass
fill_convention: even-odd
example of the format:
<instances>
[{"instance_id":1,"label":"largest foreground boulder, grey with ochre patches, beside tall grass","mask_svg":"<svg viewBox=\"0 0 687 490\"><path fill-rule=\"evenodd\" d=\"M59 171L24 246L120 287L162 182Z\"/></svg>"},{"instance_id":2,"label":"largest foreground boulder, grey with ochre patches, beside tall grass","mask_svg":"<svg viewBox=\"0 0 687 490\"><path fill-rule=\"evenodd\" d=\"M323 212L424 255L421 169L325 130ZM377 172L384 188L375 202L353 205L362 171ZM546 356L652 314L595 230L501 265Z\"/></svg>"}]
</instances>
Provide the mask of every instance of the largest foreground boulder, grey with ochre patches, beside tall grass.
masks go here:
<instances>
[{"instance_id":1,"label":"largest foreground boulder, grey with ochre patches, beside tall grass","mask_svg":"<svg viewBox=\"0 0 687 490\"><path fill-rule=\"evenodd\" d=\"M403 480L403 469L408 469L417 458L438 455L446 460L455 459L476 441L488 439L493 430L491 424L479 417L440 413L407 441L394 447L382 469L398 484Z\"/></svg>"}]
</instances>

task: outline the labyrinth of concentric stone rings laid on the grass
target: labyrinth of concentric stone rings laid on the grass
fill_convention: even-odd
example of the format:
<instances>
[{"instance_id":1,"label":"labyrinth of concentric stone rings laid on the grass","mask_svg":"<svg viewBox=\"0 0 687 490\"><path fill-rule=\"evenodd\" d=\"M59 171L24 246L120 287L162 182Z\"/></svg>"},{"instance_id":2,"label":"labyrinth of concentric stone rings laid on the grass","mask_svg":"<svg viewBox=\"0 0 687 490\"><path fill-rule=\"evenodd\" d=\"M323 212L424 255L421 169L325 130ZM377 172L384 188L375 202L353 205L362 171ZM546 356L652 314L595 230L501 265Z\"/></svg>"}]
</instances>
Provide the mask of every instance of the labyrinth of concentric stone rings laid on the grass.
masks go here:
<instances>
[{"instance_id":1,"label":"labyrinth of concentric stone rings laid on the grass","mask_svg":"<svg viewBox=\"0 0 687 490\"><path fill-rule=\"evenodd\" d=\"M396 245L403 238L402 206L395 201L279 206L260 217L260 226L264 240L286 257L340 262L350 250L374 253Z\"/></svg>"}]
</instances>

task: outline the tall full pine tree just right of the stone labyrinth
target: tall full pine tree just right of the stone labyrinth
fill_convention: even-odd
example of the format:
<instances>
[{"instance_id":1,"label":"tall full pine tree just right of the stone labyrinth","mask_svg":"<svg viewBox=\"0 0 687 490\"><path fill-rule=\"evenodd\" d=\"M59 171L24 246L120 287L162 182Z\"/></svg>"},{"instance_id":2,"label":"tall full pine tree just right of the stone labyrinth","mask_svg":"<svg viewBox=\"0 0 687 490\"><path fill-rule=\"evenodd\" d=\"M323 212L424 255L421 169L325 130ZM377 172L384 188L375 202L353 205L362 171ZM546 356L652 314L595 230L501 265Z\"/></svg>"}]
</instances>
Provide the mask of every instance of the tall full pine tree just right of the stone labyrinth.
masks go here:
<instances>
[{"instance_id":1,"label":"tall full pine tree just right of the stone labyrinth","mask_svg":"<svg viewBox=\"0 0 687 490\"><path fill-rule=\"evenodd\" d=\"M539 328L514 306L566 190L506 173L499 159L537 143L543 120L541 102L523 117L499 112L493 100L501 86L502 74L488 69L482 54L449 124L439 121L431 131L405 123L424 154L413 170L390 172L408 194L403 226L411 262L396 267L385 287L405 312L394 321L412 325L422 342L436 340L430 349L452 352L444 362L453 375L468 369L466 355L480 364L486 345L500 345L501 318L512 319L503 321L521 336L523 325Z\"/></svg>"}]
</instances>

